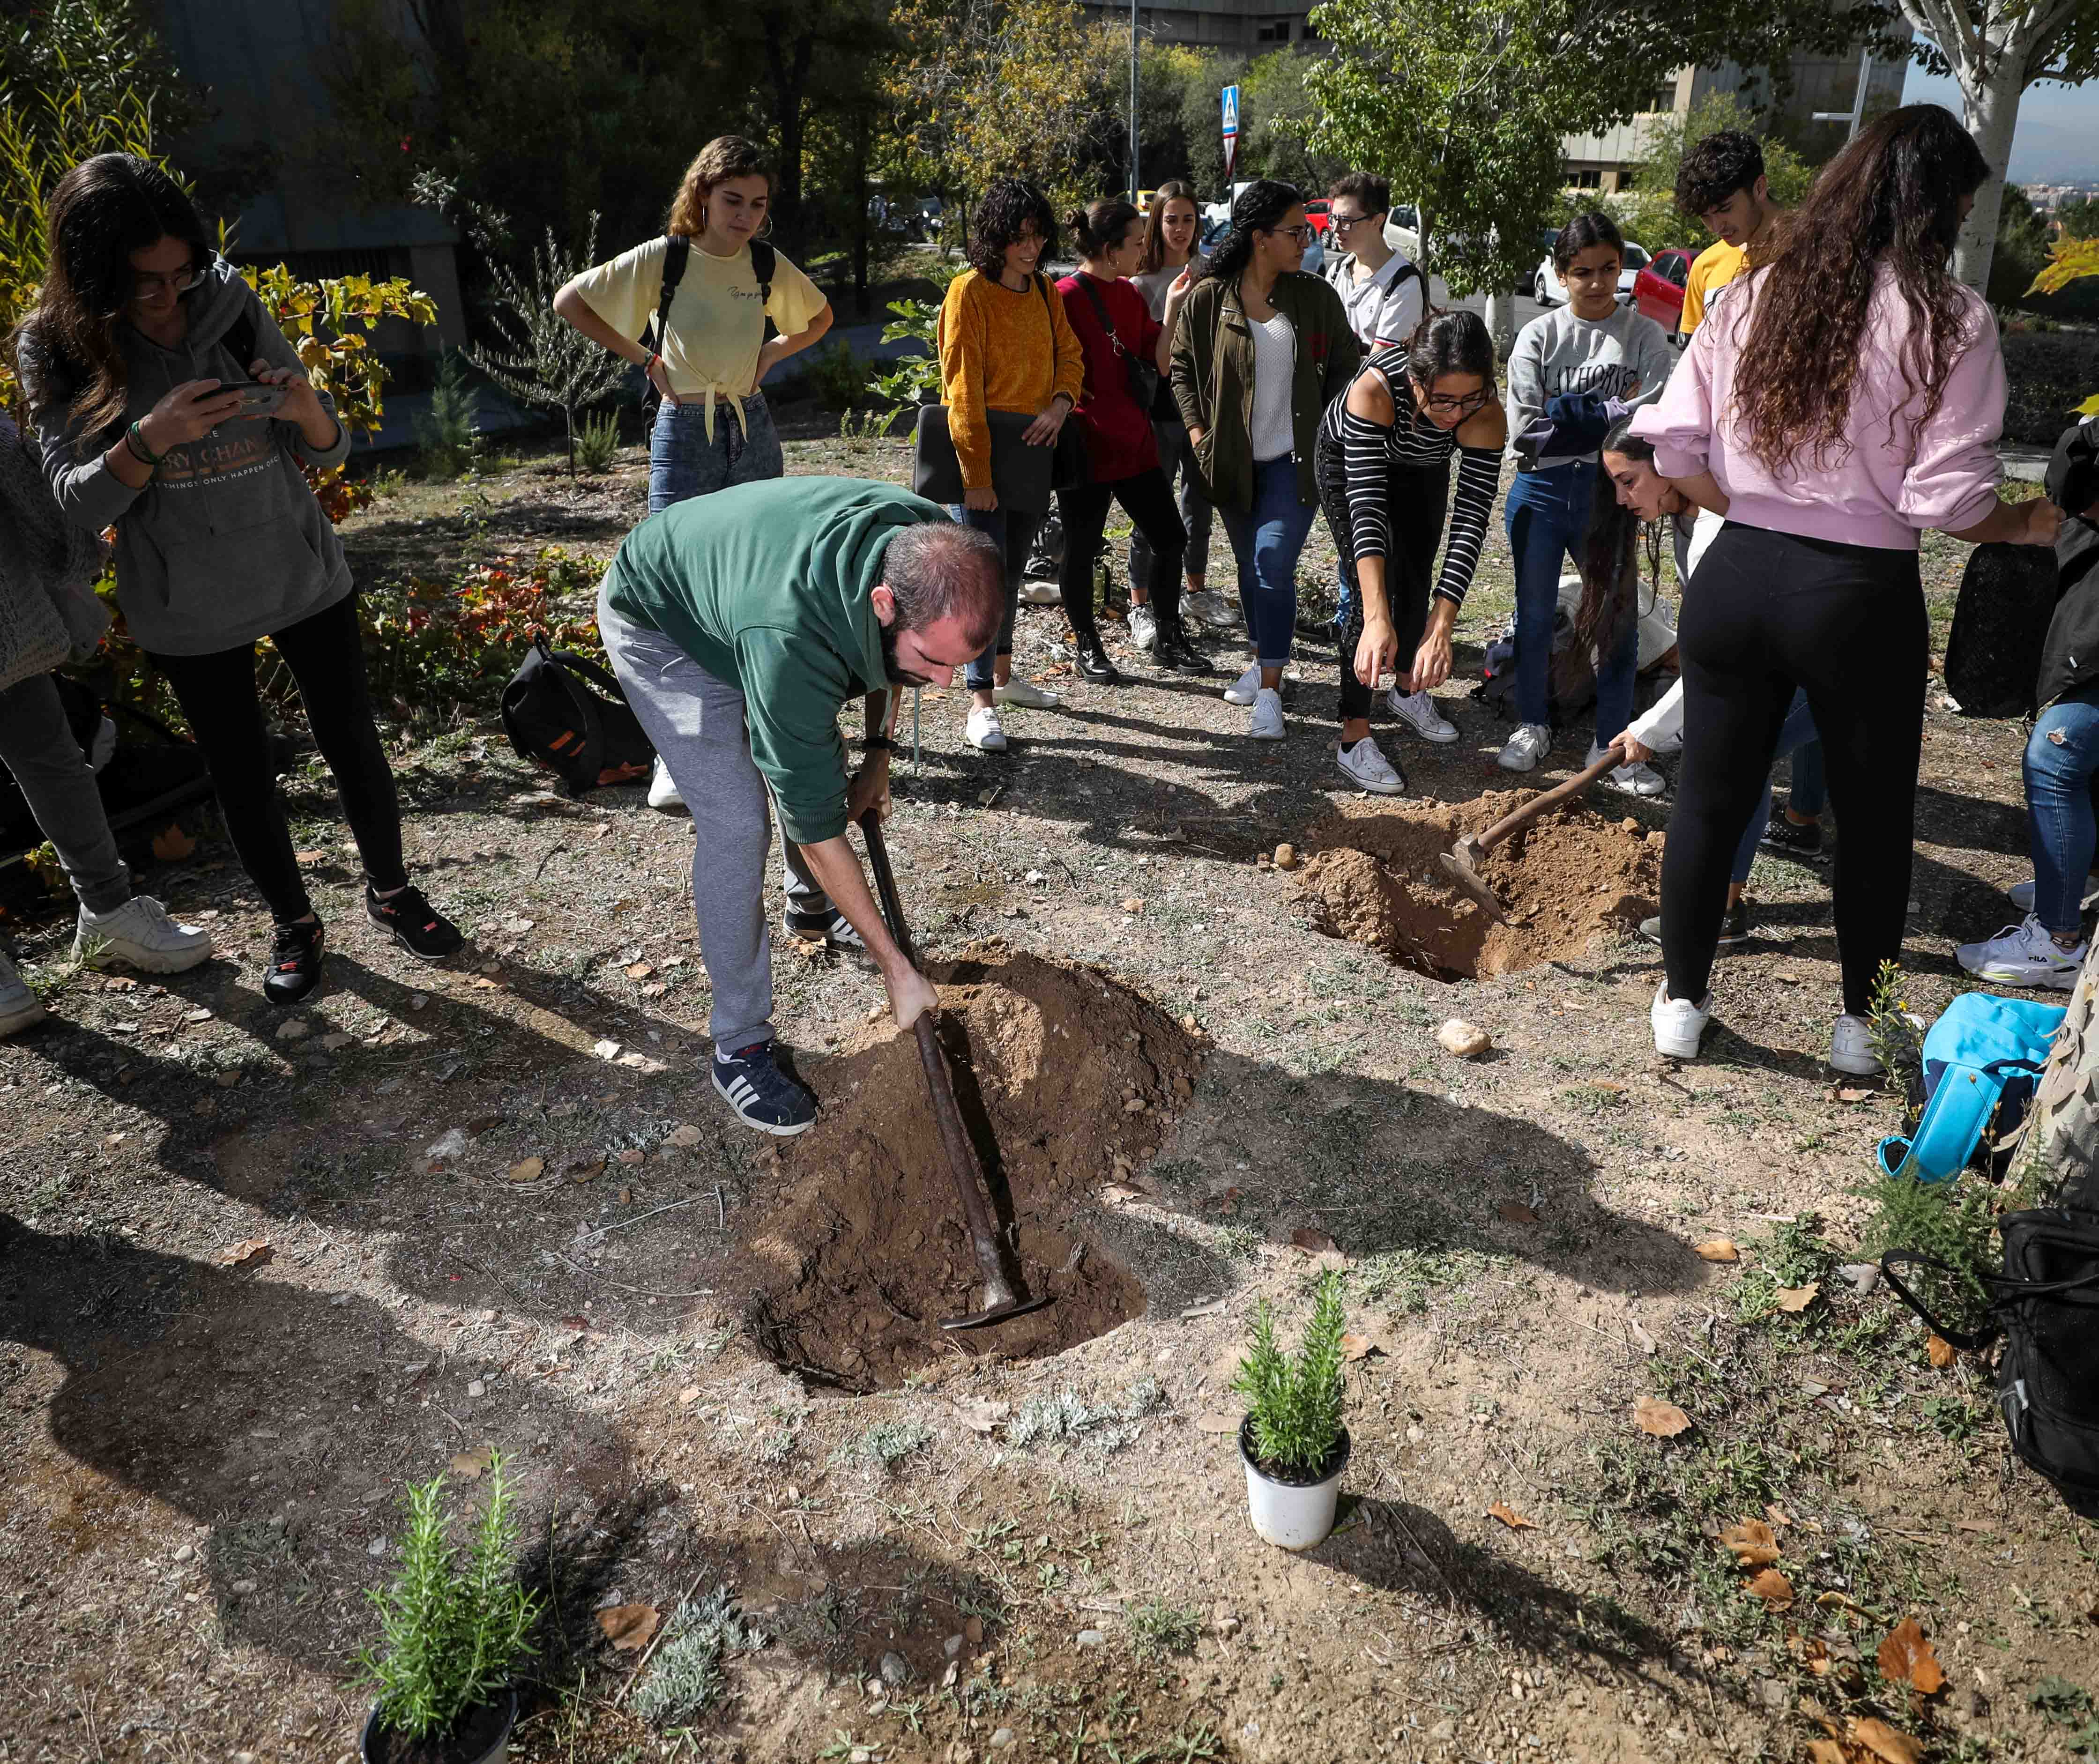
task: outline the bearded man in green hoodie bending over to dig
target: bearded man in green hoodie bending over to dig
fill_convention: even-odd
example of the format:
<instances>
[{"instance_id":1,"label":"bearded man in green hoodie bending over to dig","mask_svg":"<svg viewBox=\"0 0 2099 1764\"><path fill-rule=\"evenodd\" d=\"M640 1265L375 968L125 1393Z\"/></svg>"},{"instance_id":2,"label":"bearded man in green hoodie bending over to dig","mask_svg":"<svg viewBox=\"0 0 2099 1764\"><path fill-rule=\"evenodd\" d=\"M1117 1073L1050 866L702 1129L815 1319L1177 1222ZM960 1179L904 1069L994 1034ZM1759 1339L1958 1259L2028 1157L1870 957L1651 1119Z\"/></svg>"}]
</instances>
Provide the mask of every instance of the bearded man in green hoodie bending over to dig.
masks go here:
<instances>
[{"instance_id":1,"label":"bearded man in green hoodie bending over to dig","mask_svg":"<svg viewBox=\"0 0 2099 1764\"><path fill-rule=\"evenodd\" d=\"M693 912L714 984L714 1089L749 1126L802 1133L817 1097L772 1045L766 797L793 921L838 915L898 1028L934 1007L867 891L846 822L888 805L896 686L945 686L997 631L997 547L936 503L865 478L770 478L651 514L598 589L598 631L634 715L693 810ZM846 774L838 713L867 701ZM852 944L844 927L829 938Z\"/></svg>"}]
</instances>

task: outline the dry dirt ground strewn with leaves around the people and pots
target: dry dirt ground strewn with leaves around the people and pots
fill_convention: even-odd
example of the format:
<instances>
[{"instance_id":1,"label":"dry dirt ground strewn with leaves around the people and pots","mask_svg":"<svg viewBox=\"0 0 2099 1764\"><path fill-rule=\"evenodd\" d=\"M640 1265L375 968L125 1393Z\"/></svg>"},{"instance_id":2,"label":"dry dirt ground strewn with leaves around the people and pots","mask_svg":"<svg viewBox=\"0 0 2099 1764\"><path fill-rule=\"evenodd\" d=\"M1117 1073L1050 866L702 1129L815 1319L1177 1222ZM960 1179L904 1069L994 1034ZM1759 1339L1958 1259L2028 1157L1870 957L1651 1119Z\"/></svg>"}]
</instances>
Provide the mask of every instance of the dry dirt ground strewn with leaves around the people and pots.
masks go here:
<instances>
[{"instance_id":1,"label":"dry dirt ground strewn with leaves around the people and pots","mask_svg":"<svg viewBox=\"0 0 2099 1764\"><path fill-rule=\"evenodd\" d=\"M905 459L806 436L789 470ZM348 539L374 581L605 556L640 508L630 451L575 487L407 485ZM1933 545L1942 631L1956 573ZM1497 526L1461 675L1507 610ZM1026 673L1058 636L1022 615ZM2093 1756L2099 1533L2009 1458L1988 1368L1935 1370L1839 1273L1897 1103L1824 1066L1826 870L1759 860L1709 1053L1658 1061L1625 923L1667 803L1539 829L1499 860L1522 923L1484 940L1408 883L1484 814L1442 805L1509 784L1463 682L1455 747L1383 730L1419 793L1394 805L1333 768L1331 648L1261 747L1222 677L1127 665L1056 675L1005 755L928 692L896 768L966 1110L1058 1298L999 1332L934 1326L968 1269L875 980L777 954L825 1120L781 1149L735 1126L691 822L550 795L491 719L399 749L470 961L365 933L311 766L288 793L334 954L296 1017L210 826L151 877L210 965L78 975L63 912L17 923L55 1019L0 1045L0 1760L351 1758L403 1487L449 1475L464 1514L489 1445L552 1602L529 1764ZM2026 860L2019 728L1933 690L1927 743L1929 1013ZM1280 841L1310 864L1264 864ZM1444 1053L1446 1017L1492 1053ZM1700 1259L1715 1238L1740 1259ZM1371 1347L1339 1527L1297 1558L1247 1527L1228 1384L1255 1303L1295 1338L1322 1265ZM1650 1397L1688 1426L1641 1430ZM1751 1519L1790 1596L1721 1546ZM716 1586L766 1644L651 1726L594 1613ZM1904 1617L1929 1697L1879 1661Z\"/></svg>"}]
</instances>

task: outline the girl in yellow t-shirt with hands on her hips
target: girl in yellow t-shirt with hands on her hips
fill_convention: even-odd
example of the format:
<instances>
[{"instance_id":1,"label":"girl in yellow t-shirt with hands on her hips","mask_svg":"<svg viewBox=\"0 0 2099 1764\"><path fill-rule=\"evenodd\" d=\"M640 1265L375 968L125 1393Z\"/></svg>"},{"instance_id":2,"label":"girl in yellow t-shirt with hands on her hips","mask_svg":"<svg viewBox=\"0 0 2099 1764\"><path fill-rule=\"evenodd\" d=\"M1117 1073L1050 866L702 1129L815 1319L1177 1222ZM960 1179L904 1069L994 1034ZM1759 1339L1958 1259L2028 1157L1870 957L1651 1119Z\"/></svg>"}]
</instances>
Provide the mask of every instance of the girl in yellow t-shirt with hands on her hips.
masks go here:
<instances>
[{"instance_id":1,"label":"girl in yellow t-shirt with hands on her hips","mask_svg":"<svg viewBox=\"0 0 2099 1764\"><path fill-rule=\"evenodd\" d=\"M663 405L649 440L649 512L785 472L758 384L831 329L831 304L787 258L762 289L751 241L770 231L772 174L758 147L724 134L699 149L670 208L691 239L659 352L640 342L663 296L670 239L651 239L584 271L554 310L586 338L640 367ZM766 319L779 329L766 342Z\"/></svg>"}]
</instances>

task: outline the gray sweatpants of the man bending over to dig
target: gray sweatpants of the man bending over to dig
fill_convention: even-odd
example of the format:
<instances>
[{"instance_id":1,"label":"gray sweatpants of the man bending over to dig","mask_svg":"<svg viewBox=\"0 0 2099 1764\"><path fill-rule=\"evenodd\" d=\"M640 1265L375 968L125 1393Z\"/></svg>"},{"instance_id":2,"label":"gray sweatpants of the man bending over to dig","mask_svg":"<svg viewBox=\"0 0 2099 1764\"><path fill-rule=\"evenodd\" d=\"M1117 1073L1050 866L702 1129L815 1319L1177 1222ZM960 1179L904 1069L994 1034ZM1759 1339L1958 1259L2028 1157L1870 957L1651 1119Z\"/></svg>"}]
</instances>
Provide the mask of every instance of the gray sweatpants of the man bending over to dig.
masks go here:
<instances>
[{"instance_id":1,"label":"gray sweatpants of the man bending over to dig","mask_svg":"<svg viewBox=\"0 0 2099 1764\"><path fill-rule=\"evenodd\" d=\"M743 692L726 686L661 631L630 625L598 598L598 636L634 715L693 812L693 917L714 986L707 1032L720 1053L772 1034L772 940L766 929L766 852L772 799L751 759ZM781 883L796 912L829 900L781 837Z\"/></svg>"}]
</instances>

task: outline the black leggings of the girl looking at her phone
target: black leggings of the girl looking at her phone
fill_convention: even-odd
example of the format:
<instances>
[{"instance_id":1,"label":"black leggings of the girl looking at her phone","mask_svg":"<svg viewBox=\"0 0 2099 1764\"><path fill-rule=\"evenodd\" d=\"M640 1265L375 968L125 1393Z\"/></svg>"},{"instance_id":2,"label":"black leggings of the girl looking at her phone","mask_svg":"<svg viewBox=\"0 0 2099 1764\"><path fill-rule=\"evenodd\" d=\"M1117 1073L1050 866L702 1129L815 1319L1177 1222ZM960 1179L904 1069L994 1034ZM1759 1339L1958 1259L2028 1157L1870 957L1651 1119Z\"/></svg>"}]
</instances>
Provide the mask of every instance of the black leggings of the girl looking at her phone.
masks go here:
<instances>
[{"instance_id":1,"label":"black leggings of the girl looking at her phone","mask_svg":"<svg viewBox=\"0 0 2099 1764\"><path fill-rule=\"evenodd\" d=\"M401 887L407 881L401 866L401 801L395 797L380 732L372 724L357 596L346 594L311 619L271 631L271 642L298 682L313 740L336 774L336 793L357 837L365 877L378 889ZM304 919L313 902L292 856L292 831L283 824L277 780L269 770L254 644L214 654L155 654L151 663L168 677L189 717L212 768L227 835L271 917L279 925Z\"/></svg>"}]
</instances>

